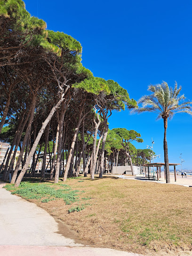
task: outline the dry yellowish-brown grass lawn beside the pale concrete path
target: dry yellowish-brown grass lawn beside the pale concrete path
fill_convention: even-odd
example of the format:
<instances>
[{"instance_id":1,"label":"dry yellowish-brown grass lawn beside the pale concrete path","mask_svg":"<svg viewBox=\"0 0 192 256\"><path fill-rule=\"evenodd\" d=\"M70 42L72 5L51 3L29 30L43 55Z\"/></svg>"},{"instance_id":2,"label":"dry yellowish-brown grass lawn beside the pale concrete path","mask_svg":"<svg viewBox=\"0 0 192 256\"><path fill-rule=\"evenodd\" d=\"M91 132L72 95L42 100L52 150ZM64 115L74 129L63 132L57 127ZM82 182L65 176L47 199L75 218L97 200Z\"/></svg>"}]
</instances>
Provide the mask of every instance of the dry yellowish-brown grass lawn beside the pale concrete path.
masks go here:
<instances>
[{"instance_id":1,"label":"dry yellowish-brown grass lawn beside the pale concrete path","mask_svg":"<svg viewBox=\"0 0 192 256\"><path fill-rule=\"evenodd\" d=\"M78 190L79 200L71 205L63 199L30 201L70 225L79 239L147 255L179 255L182 251L191 255L192 188L112 176L93 181L80 176L59 184ZM83 210L68 213L70 208L82 205Z\"/></svg>"}]
</instances>

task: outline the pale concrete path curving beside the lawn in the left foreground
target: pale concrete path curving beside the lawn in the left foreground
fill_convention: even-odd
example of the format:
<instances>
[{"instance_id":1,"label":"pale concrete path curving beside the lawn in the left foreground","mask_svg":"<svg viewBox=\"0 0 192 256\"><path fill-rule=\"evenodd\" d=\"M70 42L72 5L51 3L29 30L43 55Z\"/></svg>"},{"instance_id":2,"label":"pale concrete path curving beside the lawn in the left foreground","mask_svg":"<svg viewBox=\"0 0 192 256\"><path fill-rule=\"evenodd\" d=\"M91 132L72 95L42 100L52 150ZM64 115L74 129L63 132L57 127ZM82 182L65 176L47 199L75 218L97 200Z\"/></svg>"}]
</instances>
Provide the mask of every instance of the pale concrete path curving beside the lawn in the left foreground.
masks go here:
<instances>
[{"instance_id":1,"label":"pale concrete path curving beside the lawn in the left foreground","mask_svg":"<svg viewBox=\"0 0 192 256\"><path fill-rule=\"evenodd\" d=\"M138 256L94 248L58 233L58 224L45 210L0 184L0 255L6 256Z\"/></svg>"}]
</instances>

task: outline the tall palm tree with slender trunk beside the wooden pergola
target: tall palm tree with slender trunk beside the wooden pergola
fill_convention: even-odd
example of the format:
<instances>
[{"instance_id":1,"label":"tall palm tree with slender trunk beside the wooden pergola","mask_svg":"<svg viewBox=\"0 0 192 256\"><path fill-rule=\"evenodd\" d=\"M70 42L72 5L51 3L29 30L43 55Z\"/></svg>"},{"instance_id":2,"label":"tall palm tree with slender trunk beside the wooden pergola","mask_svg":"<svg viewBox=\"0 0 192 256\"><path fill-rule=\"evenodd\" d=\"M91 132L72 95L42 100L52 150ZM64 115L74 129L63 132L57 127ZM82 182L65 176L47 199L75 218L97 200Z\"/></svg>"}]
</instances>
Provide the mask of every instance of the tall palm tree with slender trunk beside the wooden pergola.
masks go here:
<instances>
[{"instance_id":1,"label":"tall palm tree with slender trunk beside the wooden pergola","mask_svg":"<svg viewBox=\"0 0 192 256\"><path fill-rule=\"evenodd\" d=\"M186 102L184 95L179 95L181 86L177 88L169 88L168 84L163 81L162 84L150 85L148 88L152 92L151 95L145 95L140 98L138 104L142 107L133 110L133 112L155 112L158 114L157 120L162 118L164 121L164 160L166 169L166 183L170 183L169 165L168 165L168 144L167 144L167 128L168 119L171 119L175 113L185 112L192 115L192 102Z\"/></svg>"}]
</instances>

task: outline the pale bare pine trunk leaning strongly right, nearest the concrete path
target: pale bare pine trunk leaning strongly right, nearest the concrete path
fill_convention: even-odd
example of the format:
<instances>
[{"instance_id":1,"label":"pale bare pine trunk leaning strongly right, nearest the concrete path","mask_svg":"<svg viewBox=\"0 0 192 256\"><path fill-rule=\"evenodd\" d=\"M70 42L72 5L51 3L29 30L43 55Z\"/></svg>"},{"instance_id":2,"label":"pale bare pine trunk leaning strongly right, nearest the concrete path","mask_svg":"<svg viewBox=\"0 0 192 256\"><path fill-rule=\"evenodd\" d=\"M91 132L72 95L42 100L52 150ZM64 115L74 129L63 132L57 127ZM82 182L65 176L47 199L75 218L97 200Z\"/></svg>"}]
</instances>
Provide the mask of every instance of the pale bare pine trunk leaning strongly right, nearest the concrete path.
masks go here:
<instances>
[{"instance_id":1,"label":"pale bare pine trunk leaning strongly right, nearest the concrete path","mask_svg":"<svg viewBox=\"0 0 192 256\"><path fill-rule=\"evenodd\" d=\"M64 98L62 97L58 102L57 104L51 109L50 113L48 114L48 117L46 118L46 120L42 123L42 126L40 128L40 131L36 137L36 140L35 142L33 143L32 145L32 149L31 149L31 152L29 153L28 157L27 157L27 160L26 160L26 163L24 165L24 168L22 169L21 173L19 174L17 180L16 180L16 183L15 183L15 186L18 187L19 184L21 183L23 177L24 177L24 174L28 168L28 165L32 159L32 155L33 153L35 152L36 150L36 147L40 141L40 138L45 130L45 128L47 127L48 125L48 122L51 120L51 118L53 117L54 113L56 112L56 110L59 108L59 106L61 105L61 103L63 102Z\"/></svg>"}]
</instances>

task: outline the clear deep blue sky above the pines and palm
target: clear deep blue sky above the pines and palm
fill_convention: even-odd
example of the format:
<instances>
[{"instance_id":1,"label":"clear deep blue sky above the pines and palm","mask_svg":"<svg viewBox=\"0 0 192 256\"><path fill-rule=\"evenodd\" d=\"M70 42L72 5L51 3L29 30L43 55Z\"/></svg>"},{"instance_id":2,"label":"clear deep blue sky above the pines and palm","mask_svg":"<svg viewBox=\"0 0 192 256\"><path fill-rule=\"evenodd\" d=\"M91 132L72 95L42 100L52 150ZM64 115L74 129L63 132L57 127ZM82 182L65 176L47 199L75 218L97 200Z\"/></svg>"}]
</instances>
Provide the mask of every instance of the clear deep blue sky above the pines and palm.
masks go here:
<instances>
[{"instance_id":1,"label":"clear deep blue sky above the pines and palm","mask_svg":"<svg viewBox=\"0 0 192 256\"><path fill-rule=\"evenodd\" d=\"M50 30L67 33L83 47L82 63L94 76L117 81L138 100L150 84L175 81L192 101L192 1L184 0L25 0L26 9L47 22ZM109 128L134 129L146 148L163 156L163 120L153 113L114 112ZM169 162L192 169L192 116L176 114L168 121Z\"/></svg>"}]
</instances>

